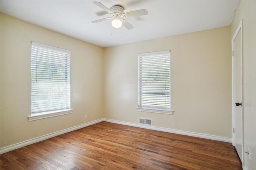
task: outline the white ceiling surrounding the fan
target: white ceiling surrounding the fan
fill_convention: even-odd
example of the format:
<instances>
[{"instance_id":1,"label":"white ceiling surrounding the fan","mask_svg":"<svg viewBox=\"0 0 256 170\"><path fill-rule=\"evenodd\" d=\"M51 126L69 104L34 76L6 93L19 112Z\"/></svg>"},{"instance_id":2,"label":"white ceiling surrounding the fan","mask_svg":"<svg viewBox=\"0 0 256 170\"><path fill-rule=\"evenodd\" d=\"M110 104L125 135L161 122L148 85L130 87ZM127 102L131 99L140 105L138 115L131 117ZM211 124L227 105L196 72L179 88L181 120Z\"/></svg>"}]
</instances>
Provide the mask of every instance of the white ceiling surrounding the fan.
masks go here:
<instances>
[{"instance_id":1,"label":"white ceiling surrounding the fan","mask_svg":"<svg viewBox=\"0 0 256 170\"><path fill-rule=\"evenodd\" d=\"M148 15L126 18L133 29L114 28L94 0L0 0L2 13L100 47L122 45L231 25L239 0L95 0L124 12L146 9Z\"/></svg>"}]
</instances>

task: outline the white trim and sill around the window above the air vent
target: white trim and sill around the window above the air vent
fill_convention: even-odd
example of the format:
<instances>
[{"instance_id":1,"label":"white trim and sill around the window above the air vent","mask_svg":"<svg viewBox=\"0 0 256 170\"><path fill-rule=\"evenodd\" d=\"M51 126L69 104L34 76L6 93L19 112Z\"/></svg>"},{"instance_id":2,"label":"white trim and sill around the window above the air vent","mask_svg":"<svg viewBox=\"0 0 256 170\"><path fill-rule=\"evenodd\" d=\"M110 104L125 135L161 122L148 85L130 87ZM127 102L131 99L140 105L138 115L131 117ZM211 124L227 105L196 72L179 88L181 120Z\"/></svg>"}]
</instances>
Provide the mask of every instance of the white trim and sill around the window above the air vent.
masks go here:
<instances>
[{"instance_id":1,"label":"white trim and sill around the window above the air vent","mask_svg":"<svg viewBox=\"0 0 256 170\"><path fill-rule=\"evenodd\" d=\"M149 52L149 53L140 53L138 54L138 88L140 88L140 57L145 56L145 55L158 55L158 54L165 54L165 53L171 53L170 50L166 51L156 51L156 52ZM171 69L171 67L170 67ZM171 78L170 78L171 80ZM171 81L170 81L170 94L171 94ZM136 107L137 111L144 111L144 112L151 112L151 113L163 113L163 114L173 114L173 110L171 110L171 95L170 95L170 108L160 108L160 107L147 107L147 106L140 106L139 105L139 100L140 100L140 93L138 89L138 107Z\"/></svg>"}]
</instances>

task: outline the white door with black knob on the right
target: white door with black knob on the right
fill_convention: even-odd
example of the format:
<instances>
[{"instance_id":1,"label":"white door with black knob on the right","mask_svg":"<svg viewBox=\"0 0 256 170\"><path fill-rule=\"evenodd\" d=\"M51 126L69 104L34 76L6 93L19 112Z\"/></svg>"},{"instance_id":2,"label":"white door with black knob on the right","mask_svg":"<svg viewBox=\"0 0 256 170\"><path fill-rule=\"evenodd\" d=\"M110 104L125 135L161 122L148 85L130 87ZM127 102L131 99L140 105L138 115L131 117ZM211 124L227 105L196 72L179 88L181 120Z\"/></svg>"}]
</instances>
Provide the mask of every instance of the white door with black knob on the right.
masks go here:
<instances>
[{"instance_id":1,"label":"white door with black knob on the right","mask_svg":"<svg viewBox=\"0 0 256 170\"><path fill-rule=\"evenodd\" d=\"M242 21L232 38L233 145L243 163L243 57Z\"/></svg>"}]
</instances>

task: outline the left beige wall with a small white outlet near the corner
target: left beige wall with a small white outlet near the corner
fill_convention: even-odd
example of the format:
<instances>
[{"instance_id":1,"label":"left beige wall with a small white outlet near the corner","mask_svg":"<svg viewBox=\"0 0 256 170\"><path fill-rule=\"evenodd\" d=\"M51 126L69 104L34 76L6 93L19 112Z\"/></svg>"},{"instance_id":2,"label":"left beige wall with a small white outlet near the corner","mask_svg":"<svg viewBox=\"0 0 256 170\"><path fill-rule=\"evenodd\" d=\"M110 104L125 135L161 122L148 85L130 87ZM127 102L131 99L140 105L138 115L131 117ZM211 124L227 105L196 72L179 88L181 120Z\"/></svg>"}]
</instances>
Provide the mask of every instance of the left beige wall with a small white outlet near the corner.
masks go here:
<instances>
[{"instance_id":1,"label":"left beige wall with a small white outlet near the corner","mask_svg":"<svg viewBox=\"0 0 256 170\"><path fill-rule=\"evenodd\" d=\"M100 119L103 49L1 14L1 145ZM31 41L71 51L72 114L28 121L31 95ZM88 119L85 119L88 114Z\"/></svg>"}]
</instances>

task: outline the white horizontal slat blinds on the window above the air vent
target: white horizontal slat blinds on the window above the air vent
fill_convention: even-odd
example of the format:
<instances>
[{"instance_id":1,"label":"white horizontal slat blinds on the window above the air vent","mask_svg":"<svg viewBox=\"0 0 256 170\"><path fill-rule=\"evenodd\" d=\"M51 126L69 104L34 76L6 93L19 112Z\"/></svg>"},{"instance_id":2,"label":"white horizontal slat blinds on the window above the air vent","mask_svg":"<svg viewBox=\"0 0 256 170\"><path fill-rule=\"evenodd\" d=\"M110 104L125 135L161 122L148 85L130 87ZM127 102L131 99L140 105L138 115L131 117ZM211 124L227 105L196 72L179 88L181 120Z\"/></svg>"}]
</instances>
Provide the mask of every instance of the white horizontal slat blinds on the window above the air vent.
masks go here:
<instances>
[{"instance_id":1,"label":"white horizontal slat blinds on the window above the air vent","mask_svg":"<svg viewBox=\"0 0 256 170\"><path fill-rule=\"evenodd\" d=\"M170 109L170 51L138 54L138 107Z\"/></svg>"}]
</instances>

